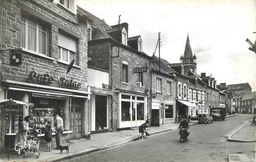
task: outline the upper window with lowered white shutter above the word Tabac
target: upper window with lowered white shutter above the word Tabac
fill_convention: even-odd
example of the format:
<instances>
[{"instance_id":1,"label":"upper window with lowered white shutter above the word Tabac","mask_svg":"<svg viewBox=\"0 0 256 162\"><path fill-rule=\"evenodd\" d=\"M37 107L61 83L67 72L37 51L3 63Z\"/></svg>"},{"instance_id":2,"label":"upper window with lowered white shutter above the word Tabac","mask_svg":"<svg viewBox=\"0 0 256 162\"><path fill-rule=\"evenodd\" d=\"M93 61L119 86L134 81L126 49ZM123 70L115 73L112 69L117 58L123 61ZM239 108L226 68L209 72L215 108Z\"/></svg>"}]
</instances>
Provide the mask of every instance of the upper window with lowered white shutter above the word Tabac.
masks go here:
<instances>
[{"instance_id":1,"label":"upper window with lowered white shutter above the word Tabac","mask_svg":"<svg viewBox=\"0 0 256 162\"><path fill-rule=\"evenodd\" d=\"M58 59L65 63L70 63L74 59L74 64L77 65L78 62L76 60L76 40L63 33L59 33L58 36Z\"/></svg>"}]
</instances>

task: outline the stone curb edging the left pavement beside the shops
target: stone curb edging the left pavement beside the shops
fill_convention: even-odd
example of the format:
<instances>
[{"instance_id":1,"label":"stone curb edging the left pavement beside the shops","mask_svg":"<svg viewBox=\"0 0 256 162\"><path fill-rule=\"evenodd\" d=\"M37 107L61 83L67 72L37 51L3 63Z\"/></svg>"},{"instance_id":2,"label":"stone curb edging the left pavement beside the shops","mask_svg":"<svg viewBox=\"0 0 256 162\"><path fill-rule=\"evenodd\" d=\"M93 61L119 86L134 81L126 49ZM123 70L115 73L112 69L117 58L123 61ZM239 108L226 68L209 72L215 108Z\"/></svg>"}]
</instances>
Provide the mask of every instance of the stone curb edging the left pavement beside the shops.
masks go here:
<instances>
[{"instance_id":1,"label":"stone curb edging the left pavement beside the shops","mask_svg":"<svg viewBox=\"0 0 256 162\"><path fill-rule=\"evenodd\" d=\"M197 123L193 123L189 126L192 126L192 125L195 125ZM159 132L154 132L152 134L159 134L159 133L162 133L162 132L168 132L168 131L172 131L173 129L167 129L167 130L164 130L164 131L159 131ZM120 142L119 144L114 144L114 145L110 145L110 146L106 146L106 147L101 147L101 148L94 148L94 149L91 149L91 150L86 150L85 152L79 152L79 153L75 153L75 154L72 154L72 155L67 155L67 156L64 156L62 158L56 158L56 159L53 159L53 160L47 160L46 161L49 161L49 162L57 162L57 161L62 161L62 160L68 160L68 159L71 159L71 158L75 158L77 156L83 156L83 155L87 155L89 153L93 153L93 152L99 152L101 150L105 150L105 149L108 149L108 148L112 148L112 147L117 147L119 145L123 145L123 144L127 144L127 143L130 143L130 142L134 142L136 140L139 140L141 139L141 137L135 137L133 139L130 139L128 141L125 141L125 142Z\"/></svg>"}]
</instances>

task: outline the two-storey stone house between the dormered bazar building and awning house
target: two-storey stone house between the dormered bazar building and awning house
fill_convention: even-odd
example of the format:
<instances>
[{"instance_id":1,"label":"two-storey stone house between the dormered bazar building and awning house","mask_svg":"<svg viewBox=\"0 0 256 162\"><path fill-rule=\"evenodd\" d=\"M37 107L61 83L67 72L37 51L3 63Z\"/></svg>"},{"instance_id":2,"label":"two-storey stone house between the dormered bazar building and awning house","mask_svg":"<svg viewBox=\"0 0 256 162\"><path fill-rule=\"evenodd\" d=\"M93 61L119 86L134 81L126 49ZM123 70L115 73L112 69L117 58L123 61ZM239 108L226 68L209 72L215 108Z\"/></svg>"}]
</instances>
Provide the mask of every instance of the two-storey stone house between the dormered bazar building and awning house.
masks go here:
<instances>
[{"instance_id":1,"label":"two-storey stone house between the dormered bazar building and awning house","mask_svg":"<svg viewBox=\"0 0 256 162\"><path fill-rule=\"evenodd\" d=\"M175 123L176 118L176 78L170 74L173 70L168 67L167 60L160 59L160 70L158 60L159 57L152 57L152 126Z\"/></svg>"}]
</instances>

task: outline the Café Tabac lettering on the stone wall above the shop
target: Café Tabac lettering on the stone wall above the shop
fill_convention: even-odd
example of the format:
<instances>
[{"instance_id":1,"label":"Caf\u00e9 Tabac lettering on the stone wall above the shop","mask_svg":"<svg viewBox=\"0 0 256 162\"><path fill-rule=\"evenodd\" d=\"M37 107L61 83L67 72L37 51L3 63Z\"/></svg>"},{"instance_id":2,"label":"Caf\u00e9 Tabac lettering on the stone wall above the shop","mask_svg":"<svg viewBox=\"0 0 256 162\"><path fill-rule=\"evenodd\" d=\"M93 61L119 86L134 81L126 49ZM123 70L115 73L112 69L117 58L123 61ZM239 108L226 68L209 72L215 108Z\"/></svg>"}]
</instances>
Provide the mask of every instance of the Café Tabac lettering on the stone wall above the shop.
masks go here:
<instances>
[{"instance_id":1,"label":"Caf\u00e9 Tabac lettering on the stone wall above the shop","mask_svg":"<svg viewBox=\"0 0 256 162\"><path fill-rule=\"evenodd\" d=\"M47 84L51 85L54 82L54 78L48 74L38 74L36 71L31 71L30 80L33 82L36 82L38 84ZM80 89L81 83L77 83L76 81L73 81L73 79L67 79L67 78L60 78L59 83L61 86L70 88L70 89Z\"/></svg>"}]
</instances>

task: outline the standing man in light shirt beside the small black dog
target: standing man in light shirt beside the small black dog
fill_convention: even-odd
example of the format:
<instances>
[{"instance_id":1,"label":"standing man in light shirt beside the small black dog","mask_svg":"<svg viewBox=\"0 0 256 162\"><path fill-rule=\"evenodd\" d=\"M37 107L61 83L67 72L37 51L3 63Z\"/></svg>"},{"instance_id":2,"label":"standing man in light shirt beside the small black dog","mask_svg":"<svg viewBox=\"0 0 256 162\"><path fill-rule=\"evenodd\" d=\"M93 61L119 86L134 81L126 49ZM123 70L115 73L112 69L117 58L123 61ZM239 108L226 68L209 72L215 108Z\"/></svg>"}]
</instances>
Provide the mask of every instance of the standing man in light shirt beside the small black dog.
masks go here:
<instances>
[{"instance_id":1,"label":"standing man in light shirt beside the small black dog","mask_svg":"<svg viewBox=\"0 0 256 162\"><path fill-rule=\"evenodd\" d=\"M62 137L62 133L64 132L64 125L63 125L63 119L60 118L60 116L57 113L54 113L54 126L56 129L56 147L57 149L60 148L60 146L62 146L62 141L61 141L61 137Z\"/></svg>"}]
</instances>

